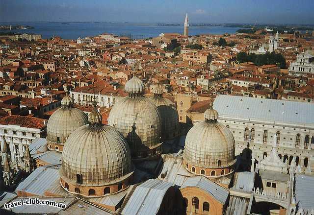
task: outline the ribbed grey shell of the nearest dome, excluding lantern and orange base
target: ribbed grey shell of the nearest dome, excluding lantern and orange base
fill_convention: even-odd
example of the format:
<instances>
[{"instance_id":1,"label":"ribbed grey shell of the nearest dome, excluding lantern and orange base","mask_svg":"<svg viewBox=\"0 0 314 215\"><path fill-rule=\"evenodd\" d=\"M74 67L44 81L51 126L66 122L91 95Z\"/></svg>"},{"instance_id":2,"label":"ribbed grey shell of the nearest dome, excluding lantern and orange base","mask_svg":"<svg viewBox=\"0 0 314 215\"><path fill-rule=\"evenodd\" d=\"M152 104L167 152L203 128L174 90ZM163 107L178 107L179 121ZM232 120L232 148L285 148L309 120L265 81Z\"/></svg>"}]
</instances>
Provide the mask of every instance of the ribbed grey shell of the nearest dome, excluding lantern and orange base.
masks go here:
<instances>
[{"instance_id":1,"label":"ribbed grey shell of the nearest dome, excluding lantern and orange base","mask_svg":"<svg viewBox=\"0 0 314 215\"><path fill-rule=\"evenodd\" d=\"M106 186L131 176L130 148L121 133L107 125L83 125L73 132L62 152L61 178L80 186Z\"/></svg>"}]
</instances>

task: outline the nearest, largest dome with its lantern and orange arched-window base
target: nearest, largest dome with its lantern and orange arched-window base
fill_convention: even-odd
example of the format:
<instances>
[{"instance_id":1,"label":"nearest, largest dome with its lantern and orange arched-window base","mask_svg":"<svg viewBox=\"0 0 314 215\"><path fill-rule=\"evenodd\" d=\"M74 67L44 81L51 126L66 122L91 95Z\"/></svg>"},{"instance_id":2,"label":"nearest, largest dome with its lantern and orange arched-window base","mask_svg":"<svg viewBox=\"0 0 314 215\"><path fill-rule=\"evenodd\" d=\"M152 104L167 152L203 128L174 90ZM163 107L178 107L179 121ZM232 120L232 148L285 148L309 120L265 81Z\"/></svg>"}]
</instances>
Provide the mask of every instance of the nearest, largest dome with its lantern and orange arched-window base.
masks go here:
<instances>
[{"instance_id":1,"label":"nearest, largest dome with its lantern and orange arched-window base","mask_svg":"<svg viewBox=\"0 0 314 215\"><path fill-rule=\"evenodd\" d=\"M103 196L124 190L133 173L131 152L123 135L102 125L96 109L89 124L73 132L62 152L61 185L85 196Z\"/></svg>"}]
</instances>

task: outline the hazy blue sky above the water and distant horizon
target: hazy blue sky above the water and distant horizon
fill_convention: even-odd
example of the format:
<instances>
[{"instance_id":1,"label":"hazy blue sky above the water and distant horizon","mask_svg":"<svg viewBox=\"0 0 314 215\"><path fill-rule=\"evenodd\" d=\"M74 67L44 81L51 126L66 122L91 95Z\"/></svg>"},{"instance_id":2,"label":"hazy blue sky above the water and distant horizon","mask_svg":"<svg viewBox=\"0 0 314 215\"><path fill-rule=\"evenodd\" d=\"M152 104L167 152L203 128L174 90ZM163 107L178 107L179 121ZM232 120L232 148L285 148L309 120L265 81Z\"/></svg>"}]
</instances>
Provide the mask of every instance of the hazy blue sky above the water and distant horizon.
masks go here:
<instances>
[{"instance_id":1,"label":"hazy blue sky above the water and distant horizon","mask_svg":"<svg viewBox=\"0 0 314 215\"><path fill-rule=\"evenodd\" d=\"M0 0L1 22L314 24L314 0Z\"/></svg>"}]
</instances>

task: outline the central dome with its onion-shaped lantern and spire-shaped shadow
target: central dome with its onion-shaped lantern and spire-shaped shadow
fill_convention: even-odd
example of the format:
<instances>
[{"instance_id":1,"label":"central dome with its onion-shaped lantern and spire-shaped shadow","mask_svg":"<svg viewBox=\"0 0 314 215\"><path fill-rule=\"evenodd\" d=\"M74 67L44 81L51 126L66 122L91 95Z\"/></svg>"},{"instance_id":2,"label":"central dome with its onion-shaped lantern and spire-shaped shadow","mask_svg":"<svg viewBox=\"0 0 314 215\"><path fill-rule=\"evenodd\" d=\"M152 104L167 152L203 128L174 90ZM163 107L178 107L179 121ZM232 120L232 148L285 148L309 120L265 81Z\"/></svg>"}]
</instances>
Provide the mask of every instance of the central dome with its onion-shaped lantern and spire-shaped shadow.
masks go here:
<instances>
[{"instance_id":1,"label":"central dome with its onion-shaped lantern and spire-shaped shadow","mask_svg":"<svg viewBox=\"0 0 314 215\"><path fill-rule=\"evenodd\" d=\"M108 124L127 138L133 159L148 159L161 153L161 118L157 106L143 96L143 82L133 75L126 83L128 97L115 104Z\"/></svg>"}]
</instances>

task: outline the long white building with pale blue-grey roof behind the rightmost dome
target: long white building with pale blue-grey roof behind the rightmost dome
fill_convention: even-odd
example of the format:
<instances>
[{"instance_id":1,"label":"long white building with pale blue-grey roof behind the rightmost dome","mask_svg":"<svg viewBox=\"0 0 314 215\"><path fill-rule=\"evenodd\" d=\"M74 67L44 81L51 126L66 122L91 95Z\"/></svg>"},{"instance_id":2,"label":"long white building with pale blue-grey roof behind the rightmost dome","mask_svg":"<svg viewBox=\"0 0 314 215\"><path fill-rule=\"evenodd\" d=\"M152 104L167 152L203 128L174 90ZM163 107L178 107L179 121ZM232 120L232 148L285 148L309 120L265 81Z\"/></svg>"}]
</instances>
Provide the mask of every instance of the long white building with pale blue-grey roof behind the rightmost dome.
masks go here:
<instances>
[{"instance_id":1,"label":"long white building with pale blue-grey roof behind the rightmost dome","mask_svg":"<svg viewBox=\"0 0 314 215\"><path fill-rule=\"evenodd\" d=\"M219 95L213 107L235 137L236 155L249 145L261 161L277 147L288 165L294 158L303 172L314 168L314 104Z\"/></svg>"}]
</instances>

